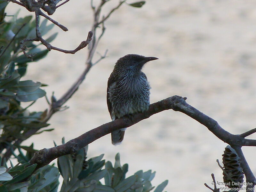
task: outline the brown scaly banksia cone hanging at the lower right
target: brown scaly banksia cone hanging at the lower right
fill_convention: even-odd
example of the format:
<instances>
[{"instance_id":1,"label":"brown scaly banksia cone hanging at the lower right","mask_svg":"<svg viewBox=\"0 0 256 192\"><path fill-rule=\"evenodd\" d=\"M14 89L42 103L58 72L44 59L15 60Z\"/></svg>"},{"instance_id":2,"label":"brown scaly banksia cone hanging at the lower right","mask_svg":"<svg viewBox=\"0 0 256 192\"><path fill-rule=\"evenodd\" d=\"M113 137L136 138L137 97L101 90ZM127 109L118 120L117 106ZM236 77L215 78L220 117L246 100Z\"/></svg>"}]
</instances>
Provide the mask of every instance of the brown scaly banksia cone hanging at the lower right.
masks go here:
<instances>
[{"instance_id":1,"label":"brown scaly banksia cone hanging at the lower right","mask_svg":"<svg viewBox=\"0 0 256 192\"><path fill-rule=\"evenodd\" d=\"M225 148L223 158L223 181L229 188L240 188L244 181L244 172L241 168L240 157L231 146Z\"/></svg>"}]
</instances>

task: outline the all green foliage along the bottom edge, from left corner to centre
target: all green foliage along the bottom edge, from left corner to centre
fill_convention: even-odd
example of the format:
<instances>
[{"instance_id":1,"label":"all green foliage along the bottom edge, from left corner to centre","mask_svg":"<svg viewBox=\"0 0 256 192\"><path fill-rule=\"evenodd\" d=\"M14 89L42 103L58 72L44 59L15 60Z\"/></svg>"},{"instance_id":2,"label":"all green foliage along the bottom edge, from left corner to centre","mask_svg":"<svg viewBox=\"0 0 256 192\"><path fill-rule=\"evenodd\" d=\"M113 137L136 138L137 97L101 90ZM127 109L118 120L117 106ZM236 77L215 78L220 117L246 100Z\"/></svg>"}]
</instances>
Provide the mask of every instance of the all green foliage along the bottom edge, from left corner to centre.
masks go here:
<instances>
[{"instance_id":1,"label":"all green foliage along the bottom edge, from left corner to centre","mask_svg":"<svg viewBox=\"0 0 256 192\"><path fill-rule=\"evenodd\" d=\"M140 170L126 178L128 164L121 165L119 153L113 166L110 161L102 160L104 154L87 161L87 149L80 149L73 156L59 157L58 168L46 165L35 171L36 164L29 165L24 161L7 168L5 162L5 166L0 167L0 191L57 192L60 174L63 177L60 192L149 192L155 188L151 181L156 172ZM154 192L162 192L167 183L165 180Z\"/></svg>"}]
</instances>

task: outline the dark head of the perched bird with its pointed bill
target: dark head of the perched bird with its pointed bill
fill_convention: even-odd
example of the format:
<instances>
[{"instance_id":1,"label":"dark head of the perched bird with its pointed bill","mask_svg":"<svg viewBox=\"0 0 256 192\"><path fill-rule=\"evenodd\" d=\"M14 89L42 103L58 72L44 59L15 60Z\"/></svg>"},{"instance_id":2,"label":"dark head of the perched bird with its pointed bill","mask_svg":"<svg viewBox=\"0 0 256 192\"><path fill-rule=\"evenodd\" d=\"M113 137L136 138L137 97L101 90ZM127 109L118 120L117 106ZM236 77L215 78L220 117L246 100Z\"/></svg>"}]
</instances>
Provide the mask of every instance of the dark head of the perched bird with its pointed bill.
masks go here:
<instances>
[{"instance_id":1,"label":"dark head of the perched bird with its pointed bill","mask_svg":"<svg viewBox=\"0 0 256 192\"><path fill-rule=\"evenodd\" d=\"M116 61L115 68L122 71L140 72L148 61L156 60L156 57L144 57L137 54L128 54Z\"/></svg>"}]
</instances>

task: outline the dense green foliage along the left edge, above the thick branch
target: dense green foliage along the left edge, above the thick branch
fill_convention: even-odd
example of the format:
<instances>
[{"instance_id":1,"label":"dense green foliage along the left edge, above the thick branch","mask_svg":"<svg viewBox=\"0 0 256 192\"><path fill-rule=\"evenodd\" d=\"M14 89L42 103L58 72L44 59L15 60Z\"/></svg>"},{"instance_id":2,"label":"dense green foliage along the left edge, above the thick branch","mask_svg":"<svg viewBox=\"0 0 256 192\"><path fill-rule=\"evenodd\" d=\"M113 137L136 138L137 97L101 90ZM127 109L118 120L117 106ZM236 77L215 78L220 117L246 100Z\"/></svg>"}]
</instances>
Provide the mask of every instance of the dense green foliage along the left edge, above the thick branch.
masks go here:
<instances>
[{"instance_id":1,"label":"dense green foliage along the left edge, above the thick branch","mask_svg":"<svg viewBox=\"0 0 256 192\"><path fill-rule=\"evenodd\" d=\"M26 74L28 64L44 58L48 50L43 50L39 43L30 41L24 43L24 46L27 47L28 54L33 54L33 60L23 54L20 41L35 37L36 23L31 15L19 18L19 12L11 16L10 21L6 21L4 10L7 4L8 2L0 0L0 152L4 148L11 147L12 141L26 139L24 135L29 130L49 125L44 122L45 112L28 111L28 107L37 99L45 96L46 92L41 89L45 84L32 80L20 80ZM46 21L46 19L43 20L40 25L42 35L48 33L53 27L53 24L46 25ZM50 36L48 41L52 41L56 35ZM22 102L31 101L27 108L21 107Z\"/></svg>"}]
</instances>

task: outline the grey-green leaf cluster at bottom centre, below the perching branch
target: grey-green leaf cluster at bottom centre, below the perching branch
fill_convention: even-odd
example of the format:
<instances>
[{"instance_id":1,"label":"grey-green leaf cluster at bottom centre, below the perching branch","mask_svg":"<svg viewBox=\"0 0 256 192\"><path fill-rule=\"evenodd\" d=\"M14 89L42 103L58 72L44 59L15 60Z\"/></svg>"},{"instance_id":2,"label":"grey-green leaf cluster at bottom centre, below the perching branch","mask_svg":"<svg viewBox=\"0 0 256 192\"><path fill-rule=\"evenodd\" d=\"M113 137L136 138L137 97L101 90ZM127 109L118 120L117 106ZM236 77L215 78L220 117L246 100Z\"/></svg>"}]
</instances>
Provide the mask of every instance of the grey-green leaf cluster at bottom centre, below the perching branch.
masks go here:
<instances>
[{"instance_id":1,"label":"grey-green leaf cluster at bottom centre, below the perching branch","mask_svg":"<svg viewBox=\"0 0 256 192\"><path fill-rule=\"evenodd\" d=\"M121 165L119 153L116 154L113 166L110 161L105 163L102 160L104 154L86 161L84 151L86 150L80 149L76 156L65 155L58 158L58 167L63 177L60 192L149 192L155 188L151 181L156 172L140 170L126 178L128 164ZM167 183L165 180L154 192L162 192Z\"/></svg>"}]
</instances>

